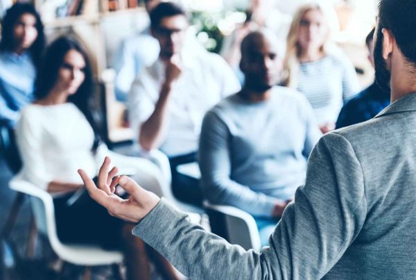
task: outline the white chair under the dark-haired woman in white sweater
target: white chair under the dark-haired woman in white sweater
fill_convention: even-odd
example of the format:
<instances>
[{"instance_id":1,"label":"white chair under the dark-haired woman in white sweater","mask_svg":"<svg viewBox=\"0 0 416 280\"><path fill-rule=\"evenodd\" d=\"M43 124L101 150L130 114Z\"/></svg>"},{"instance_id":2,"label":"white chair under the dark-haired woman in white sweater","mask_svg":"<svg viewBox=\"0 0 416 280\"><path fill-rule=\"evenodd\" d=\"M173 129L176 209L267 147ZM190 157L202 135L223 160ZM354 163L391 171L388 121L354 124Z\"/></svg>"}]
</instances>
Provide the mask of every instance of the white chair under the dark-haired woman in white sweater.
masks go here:
<instances>
[{"instance_id":1,"label":"white chair under the dark-haired woman in white sweater","mask_svg":"<svg viewBox=\"0 0 416 280\"><path fill-rule=\"evenodd\" d=\"M31 206L39 233L48 238L55 254L62 261L85 267L95 265L118 266L123 261L123 254L107 251L94 245L65 245L58 239L55 227L55 210L52 196L28 181L13 178L9 186L12 190L30 196ZM118 267L119 268L119 267ZM89 270L86 270L86 274ZM116 275L119 277L120 274Z\"/></svg>"}]
</instances>

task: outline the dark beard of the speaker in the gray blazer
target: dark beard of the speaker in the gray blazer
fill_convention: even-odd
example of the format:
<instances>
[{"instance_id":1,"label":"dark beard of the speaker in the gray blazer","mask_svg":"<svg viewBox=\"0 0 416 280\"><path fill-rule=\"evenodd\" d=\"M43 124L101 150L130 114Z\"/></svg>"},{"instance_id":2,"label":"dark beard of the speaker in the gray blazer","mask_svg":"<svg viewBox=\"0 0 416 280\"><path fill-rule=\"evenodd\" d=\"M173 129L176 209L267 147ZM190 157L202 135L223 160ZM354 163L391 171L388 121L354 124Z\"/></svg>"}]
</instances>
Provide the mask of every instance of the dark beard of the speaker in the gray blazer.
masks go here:
<instances>
[{"instance_id":1,"label":"dark beard of the speaker in the gray blazer","mask_svg":"<svg viewBox=\"0 0 416 280\"><path fill-rule=\"evenodd\" d=\"M376 42L374 42L374 69L376 71L376 83L385 92L390 92L391 73L383 58L383 33L379 26Z\"/></svg>"}]
</instances>

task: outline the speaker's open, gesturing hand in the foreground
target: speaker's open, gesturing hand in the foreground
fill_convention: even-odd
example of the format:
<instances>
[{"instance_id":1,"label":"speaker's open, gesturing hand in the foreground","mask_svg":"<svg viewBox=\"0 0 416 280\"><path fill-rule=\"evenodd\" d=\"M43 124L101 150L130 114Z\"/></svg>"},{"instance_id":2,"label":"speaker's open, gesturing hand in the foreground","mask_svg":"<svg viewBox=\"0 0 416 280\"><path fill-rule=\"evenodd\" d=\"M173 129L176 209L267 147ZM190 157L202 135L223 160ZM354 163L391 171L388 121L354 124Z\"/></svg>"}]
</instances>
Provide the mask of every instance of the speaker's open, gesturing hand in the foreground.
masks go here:
<instances>
[{"instance_id":1,"label":"speaker's open, gesturing hand in the foreground","mask_svg":"<svg viewBox=\"0 0 416 280\"><path fill-rule=\"evenodd\" d=\"M98 174L98 186L84 170L78 170L78 173L92 199L104 206L110 215L127 222L138 223L155 208L160 199L153 192L141 188L128 176L115 176L116 167L108 170L110 162L110 158L106 157ZM128 192L130 195L128 199L122 199L114 194L117 185Z\"/></svg>"}]
</instances>

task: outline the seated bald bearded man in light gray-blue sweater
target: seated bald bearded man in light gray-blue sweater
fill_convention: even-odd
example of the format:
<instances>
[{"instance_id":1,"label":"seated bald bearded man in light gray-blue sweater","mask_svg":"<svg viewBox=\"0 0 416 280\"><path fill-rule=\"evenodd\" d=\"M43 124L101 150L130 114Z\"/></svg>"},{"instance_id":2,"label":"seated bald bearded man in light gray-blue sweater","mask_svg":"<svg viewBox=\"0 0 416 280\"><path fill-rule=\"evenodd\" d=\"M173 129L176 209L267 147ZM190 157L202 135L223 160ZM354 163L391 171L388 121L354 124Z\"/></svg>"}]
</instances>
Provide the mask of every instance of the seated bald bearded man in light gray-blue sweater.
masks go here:
<instances>
[{"instance_id":1,"label":"seated bald bearded man in light gray-blue sweater","mask_svg":"<svg viewBox=\"0 0 416 280\"><path fill-rule=\"evenodd\" d=\"M254 215L262 245L305 180L320 130L306 98L277 85L277 38L250 33L241 44L241 92L220 101L202 122L198 161L204 195Z\"/></svg>"}]
</instances>

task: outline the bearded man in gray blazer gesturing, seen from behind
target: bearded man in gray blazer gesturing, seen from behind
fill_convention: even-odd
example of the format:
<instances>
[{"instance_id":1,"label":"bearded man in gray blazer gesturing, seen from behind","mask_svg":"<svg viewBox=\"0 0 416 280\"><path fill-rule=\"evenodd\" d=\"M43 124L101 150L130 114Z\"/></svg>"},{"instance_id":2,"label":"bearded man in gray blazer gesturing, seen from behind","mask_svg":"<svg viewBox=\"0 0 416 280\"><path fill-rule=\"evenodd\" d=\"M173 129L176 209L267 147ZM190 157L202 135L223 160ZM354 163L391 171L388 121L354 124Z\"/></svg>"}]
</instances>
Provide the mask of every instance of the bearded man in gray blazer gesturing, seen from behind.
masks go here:
<instances>
[{"instance_id":1,"label":"bearded man in gray blazer gesturing, seen from behind","mask_svg":"<svg viewBox=\"0 0 416 280\"><path fill-rule=\"evenodd\" d=\"M324 135L270 238L246 252L191 224L187 215L126 176L90 195L192 279L416 279L416 1L381 0L376 79L392 104L374 119ZM132 197L112 195L119 183Z\"/></svg>"}]
</instances>

